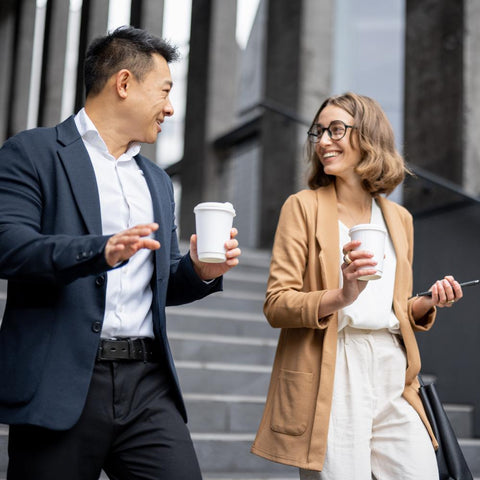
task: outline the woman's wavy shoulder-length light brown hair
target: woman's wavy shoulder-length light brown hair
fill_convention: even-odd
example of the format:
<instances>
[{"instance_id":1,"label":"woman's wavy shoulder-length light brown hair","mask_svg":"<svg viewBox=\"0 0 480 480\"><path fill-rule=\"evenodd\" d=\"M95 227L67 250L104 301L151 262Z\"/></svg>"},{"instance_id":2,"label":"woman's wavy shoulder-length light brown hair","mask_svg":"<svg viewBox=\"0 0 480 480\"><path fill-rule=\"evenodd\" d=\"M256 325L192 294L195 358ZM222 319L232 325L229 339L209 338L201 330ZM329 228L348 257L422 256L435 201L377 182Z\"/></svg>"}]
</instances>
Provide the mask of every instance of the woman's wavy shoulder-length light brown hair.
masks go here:
<instances>
[{"instance_id":1,"label":"woman's wavy shoulder-length light brown hair","mask_svg":"<svg viewBox=\"0 0 480 480\"><path fill-rule=\"evenodd\" d=\"M393 129L379 103L370 97L352 92L327 98L315 114L312 125L317 122L320 112L327 106L334 105L345 110L353 117L350 144L357 135L360 148L360 162L355 168L362 179L363 188L372 196L389 194L399 185L410 170L403 157L395 148ZM308 186L314 190L335 181L335 176L327 175L315 151L315 145L308 142Z\"/></svg>"}]
</instances>

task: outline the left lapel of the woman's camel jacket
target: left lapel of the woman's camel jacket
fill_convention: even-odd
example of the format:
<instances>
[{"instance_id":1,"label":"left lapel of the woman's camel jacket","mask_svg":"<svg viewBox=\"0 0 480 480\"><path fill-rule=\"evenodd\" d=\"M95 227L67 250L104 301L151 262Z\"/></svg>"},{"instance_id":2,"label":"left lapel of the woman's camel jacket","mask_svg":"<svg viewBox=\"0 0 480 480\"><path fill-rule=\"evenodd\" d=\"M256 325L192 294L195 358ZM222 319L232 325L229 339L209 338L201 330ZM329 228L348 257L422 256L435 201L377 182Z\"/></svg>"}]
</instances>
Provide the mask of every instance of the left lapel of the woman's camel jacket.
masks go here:
<instances>
[{"instance_id":1,"label":"left lapel of the woman's camel jacket","mask_svg":"<svg viewBox=\"0 0 480 480\"><path fill-rule=\"evenodd\" d=\"M320 266L324 288L338 288L340 238L338 233L337 195L332 184L318 188L316 237L320 245Z\"/></svg>"}]
</instances>

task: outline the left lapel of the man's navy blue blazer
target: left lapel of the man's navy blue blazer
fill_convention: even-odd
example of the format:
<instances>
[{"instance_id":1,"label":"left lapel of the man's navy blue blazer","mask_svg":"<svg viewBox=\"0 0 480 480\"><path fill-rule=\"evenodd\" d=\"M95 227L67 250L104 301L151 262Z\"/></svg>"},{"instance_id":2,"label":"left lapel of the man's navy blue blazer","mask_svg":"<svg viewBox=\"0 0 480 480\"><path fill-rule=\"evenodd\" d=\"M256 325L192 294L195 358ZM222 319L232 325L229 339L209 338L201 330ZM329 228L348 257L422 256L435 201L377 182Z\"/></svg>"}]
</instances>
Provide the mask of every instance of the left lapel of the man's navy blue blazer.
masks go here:
<instances>
[{"instance_id":1,"label":"left lapel of the man's navy blue blazer","mask_svg":"<svg viewBox=\"0 0 480 480\"><path fill-rule=\"evenodd\" d=\"M87 149L75 126L73 117L57 126L58 154L85 222L88 233L102 234L102 218L97 181Z\"/></svg>"}]
</instances>

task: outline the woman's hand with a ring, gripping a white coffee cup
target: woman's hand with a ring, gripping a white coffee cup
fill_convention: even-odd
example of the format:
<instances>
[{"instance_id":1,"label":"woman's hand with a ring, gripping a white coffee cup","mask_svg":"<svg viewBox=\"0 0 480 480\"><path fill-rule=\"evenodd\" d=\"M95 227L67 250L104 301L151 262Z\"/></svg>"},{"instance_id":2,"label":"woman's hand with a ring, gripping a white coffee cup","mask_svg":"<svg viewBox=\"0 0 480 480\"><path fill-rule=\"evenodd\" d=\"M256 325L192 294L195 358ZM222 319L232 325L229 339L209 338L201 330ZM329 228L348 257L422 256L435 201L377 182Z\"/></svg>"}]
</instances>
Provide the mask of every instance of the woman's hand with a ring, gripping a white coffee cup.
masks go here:
<instances>
[{"instance_id":1,"label":"woman's hand with a ring, gripping a white coffee cup","mask_svg":"<svg viewBox=\"0 0 480 480\"><path fill-rule=\"evenodd\" d=\"M355 250L360 246L359 240L351 241L343 246L343 287L342 295L346 305L353 303L367 286L368 281L359 280L364 275L373 275L377 272L373 260L373 253L367 250Z\"/></svg>"}]
</instances>

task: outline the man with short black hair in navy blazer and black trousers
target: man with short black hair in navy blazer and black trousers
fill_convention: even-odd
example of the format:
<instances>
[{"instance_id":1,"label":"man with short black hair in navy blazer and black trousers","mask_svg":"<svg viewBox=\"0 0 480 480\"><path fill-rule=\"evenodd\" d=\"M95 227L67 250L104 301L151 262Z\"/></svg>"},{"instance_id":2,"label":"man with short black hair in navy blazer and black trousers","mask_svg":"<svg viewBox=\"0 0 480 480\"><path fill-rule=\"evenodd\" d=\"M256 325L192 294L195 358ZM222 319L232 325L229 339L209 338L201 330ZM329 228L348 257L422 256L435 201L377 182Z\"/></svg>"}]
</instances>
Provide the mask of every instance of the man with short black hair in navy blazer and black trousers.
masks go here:
<instances>
[{"instance_id":1,"label":"man with short black hair in navy blazer and black trousers","mask_svg":"<svg viewBox=\"0 0 480 480\"><path fill-rule=\"evenodd\" d=\"M177 51L131 27L95 40L86 103L0 150L0 423L9 480L200 479L165 306L238 264L178 251L168 176L139 154L166 117Z\"/></svg>"}]
</instances>

